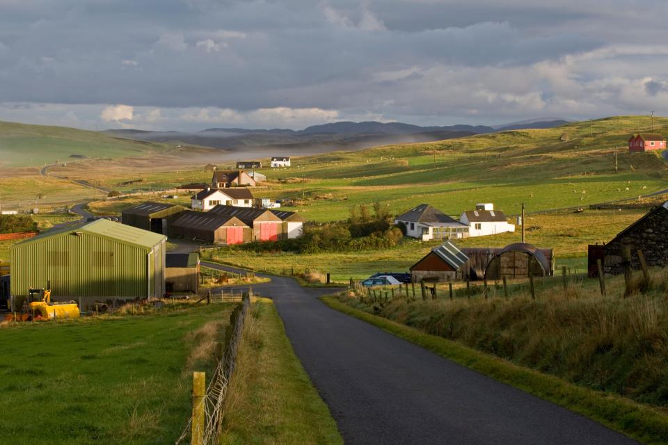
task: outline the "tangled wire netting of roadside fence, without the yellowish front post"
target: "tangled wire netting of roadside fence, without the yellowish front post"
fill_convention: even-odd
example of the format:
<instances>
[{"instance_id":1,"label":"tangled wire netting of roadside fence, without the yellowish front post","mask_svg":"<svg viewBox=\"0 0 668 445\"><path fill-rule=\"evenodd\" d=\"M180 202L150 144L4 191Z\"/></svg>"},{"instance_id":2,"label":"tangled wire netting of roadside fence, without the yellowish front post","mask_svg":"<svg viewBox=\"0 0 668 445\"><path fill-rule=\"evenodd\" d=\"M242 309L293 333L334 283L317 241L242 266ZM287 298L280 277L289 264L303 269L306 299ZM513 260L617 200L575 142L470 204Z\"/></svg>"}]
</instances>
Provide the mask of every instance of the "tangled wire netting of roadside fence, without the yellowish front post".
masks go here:
<instances>
[{"instance_id":1,"label":"tangled wire netting of roadside fence, without the yellowish front post","mask_svg":"<svg viewBox=\"0 0 668 445\"><path fill-rule=\"evenodd\" d=\"M212 379L209 381L205 396L202 398L202 406L204 408L204 426L200 430L200 426L196 425L193 431L193 418L190 416L181 436L175 442L175 445L197 443L202 445L216 445L221 434L221 414L223 412L223 403L225 402L225 394L227 394L228 383L230 377L234 372L234 367L237 365L237 348L241 341L241 332L244 330L244 320L246 313L250 307L250 298L244 297L241 303L239 315L234 323L232 335L228 344L225 345L225 353L223 359L218 362L216 370L213 373ZM193 407L194 408L194 407ZM192 436L200 437L201 442L193 442ZM190 442L189 442L190 441Z\"/></svg>"}]
</instances>

